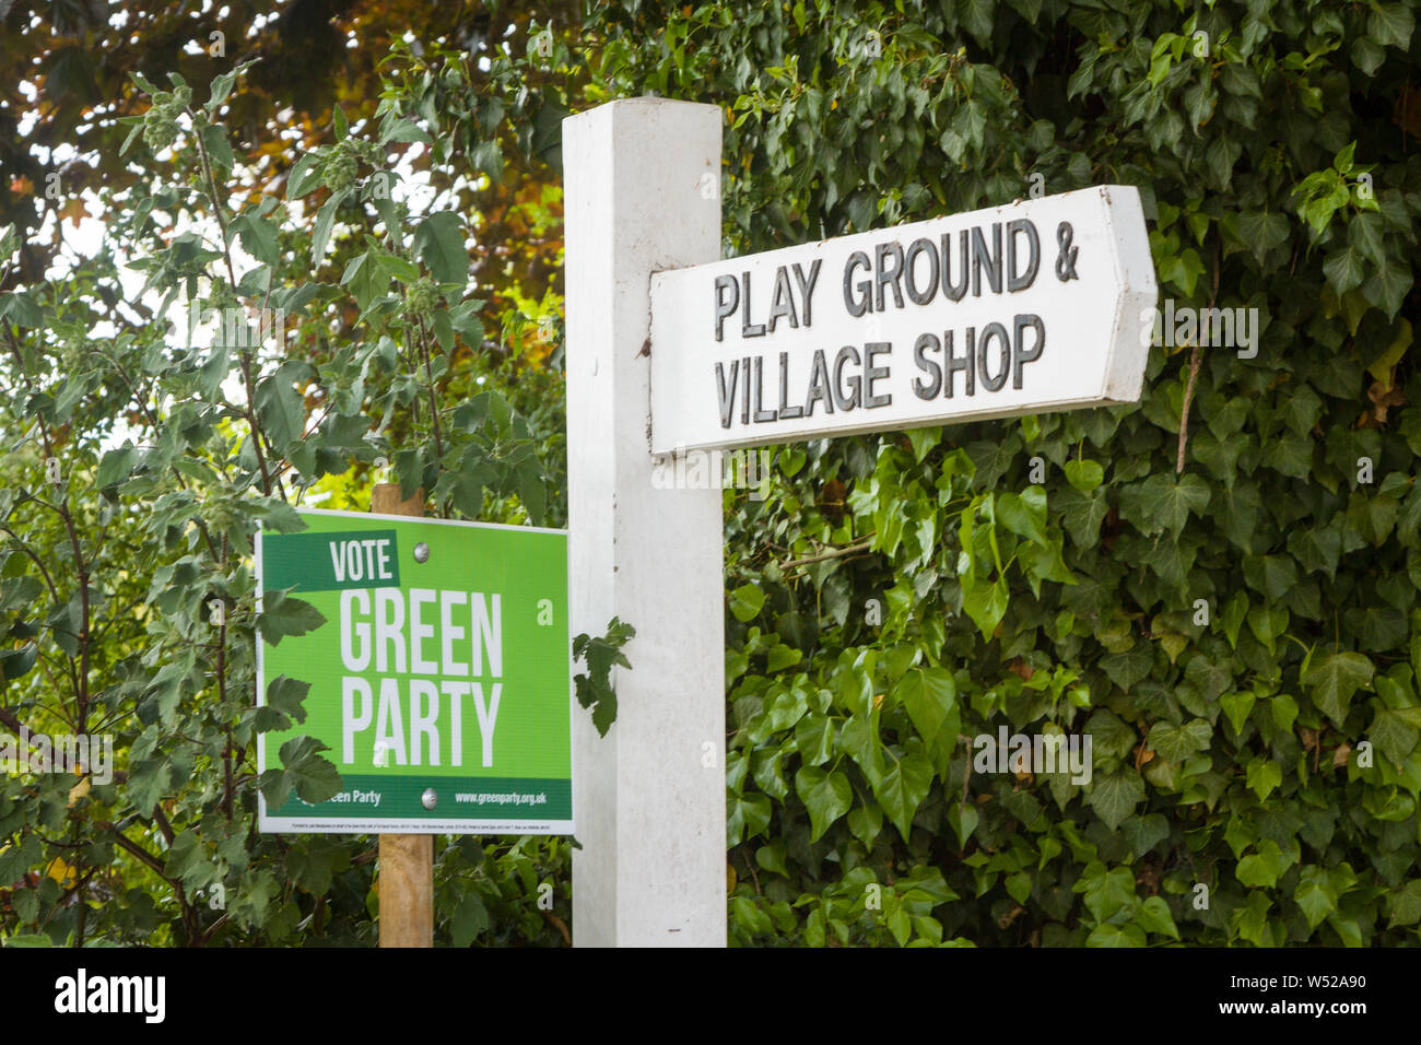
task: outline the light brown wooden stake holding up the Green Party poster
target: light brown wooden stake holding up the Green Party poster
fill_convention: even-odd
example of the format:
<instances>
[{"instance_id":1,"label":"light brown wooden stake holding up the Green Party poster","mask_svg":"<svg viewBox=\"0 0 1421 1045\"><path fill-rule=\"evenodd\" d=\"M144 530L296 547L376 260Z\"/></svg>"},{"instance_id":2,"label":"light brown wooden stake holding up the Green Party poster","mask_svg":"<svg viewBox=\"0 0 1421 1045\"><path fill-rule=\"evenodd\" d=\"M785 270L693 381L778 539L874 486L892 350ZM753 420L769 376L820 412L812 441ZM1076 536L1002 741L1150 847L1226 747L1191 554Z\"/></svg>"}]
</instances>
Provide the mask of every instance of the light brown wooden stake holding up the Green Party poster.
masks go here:
<instances>
[{"instance_id":1,"label":"light brown wooden stake holding up the Green Party poster","mask_svg":"<svg viewBox=\"0 0 1421 1045\"><path fill-rule=\"evenodd\" d=\"M423 518L425 492L399 499L399 483L377 483L369 510ZM379 836L379 945L433 947L433 835Z\"/></svg>"}]
</instances>

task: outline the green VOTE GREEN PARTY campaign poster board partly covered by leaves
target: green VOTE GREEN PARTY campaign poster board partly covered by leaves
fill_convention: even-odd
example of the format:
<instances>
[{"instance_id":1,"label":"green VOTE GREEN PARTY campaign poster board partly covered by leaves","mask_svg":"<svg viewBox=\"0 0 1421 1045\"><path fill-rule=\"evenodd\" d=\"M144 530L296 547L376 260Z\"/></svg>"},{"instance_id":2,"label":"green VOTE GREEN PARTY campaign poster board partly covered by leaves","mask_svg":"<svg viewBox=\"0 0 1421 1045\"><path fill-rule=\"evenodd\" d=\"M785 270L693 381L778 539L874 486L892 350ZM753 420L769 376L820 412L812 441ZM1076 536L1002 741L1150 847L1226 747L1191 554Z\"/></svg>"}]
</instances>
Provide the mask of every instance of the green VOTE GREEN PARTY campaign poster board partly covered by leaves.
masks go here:
<instances>
[{"instance_id":1,"label":"green VOTE GREEN PARTY campaign poster board partly covered by leaves","mask_svg":"<svg viewBox=\"0 0 1421 1045\"><path fill-rule=\"evenodd\" d=\"M257 765L310 735L342 788L260 798L261 830L571 833L567 532L300 515L306 530L259 535L259 589L325 623L257 643L263 704L283 675L311 687L304 722L257 738Z\"/></svg>"}]
</instances>

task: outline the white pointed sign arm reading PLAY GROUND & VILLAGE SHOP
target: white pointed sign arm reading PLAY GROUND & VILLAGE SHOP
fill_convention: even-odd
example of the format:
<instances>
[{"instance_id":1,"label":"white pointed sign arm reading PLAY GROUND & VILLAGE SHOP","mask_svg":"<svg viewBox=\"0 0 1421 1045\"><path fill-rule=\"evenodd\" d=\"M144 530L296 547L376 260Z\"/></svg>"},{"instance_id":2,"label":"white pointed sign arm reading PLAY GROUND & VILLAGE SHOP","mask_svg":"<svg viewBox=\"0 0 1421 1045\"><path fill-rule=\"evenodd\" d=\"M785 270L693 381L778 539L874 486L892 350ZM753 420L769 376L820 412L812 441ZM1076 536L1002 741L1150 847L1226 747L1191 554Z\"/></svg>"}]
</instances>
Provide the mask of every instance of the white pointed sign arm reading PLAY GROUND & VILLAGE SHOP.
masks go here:
<instances>
[{"instance_id":1,"label":"white pointed sign arm reading PLAY GROUND & VILLAGE SHOP","mask_svg":"<svg viewBox=\"0 0 1421 1045\"><path fill-rule=\"evenodd\" d=\"M1133 402L1155 297L1121 185L661 272L651 448Z\"/></svg>"}]
</instances>

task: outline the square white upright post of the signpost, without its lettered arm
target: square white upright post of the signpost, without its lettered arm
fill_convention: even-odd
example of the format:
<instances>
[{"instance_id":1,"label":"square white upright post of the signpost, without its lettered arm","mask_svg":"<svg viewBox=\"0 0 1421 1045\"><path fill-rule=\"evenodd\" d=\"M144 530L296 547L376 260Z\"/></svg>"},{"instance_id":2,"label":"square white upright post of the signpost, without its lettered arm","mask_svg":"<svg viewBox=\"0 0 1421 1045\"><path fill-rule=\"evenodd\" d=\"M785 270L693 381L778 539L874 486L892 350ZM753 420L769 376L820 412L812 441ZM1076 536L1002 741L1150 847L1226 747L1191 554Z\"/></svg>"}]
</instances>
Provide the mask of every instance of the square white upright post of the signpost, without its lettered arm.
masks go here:
<instances>
[{"instance_id":1,"label":"square white upright post of the signpost, without its lettered arm","mask_svg":"<svg viewBox=\"0 0 1421 1045\"><path fill-rule=\"evenodd\" d=\"M720 254L720 128L662 98L563 122L571 626L637 628L611 732L573 728L580 947L726 941L720 491L654 488L642 351L651 273Z\"/></svg>"}]
</instances>

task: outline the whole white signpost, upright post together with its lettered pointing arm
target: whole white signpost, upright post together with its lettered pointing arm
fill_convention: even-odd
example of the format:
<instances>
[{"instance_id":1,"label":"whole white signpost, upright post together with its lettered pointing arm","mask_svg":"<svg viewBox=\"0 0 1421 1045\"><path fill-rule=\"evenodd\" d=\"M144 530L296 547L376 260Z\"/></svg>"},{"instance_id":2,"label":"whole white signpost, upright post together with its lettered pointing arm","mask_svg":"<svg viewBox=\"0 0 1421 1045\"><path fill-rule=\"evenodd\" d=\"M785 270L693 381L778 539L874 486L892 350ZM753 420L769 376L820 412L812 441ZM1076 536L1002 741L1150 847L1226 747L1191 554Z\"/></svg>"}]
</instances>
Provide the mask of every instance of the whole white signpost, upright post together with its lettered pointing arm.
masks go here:
<instances>
[{"instance_id":1,"label":"whole white signpost, upright post together with its lettered pointing arm","mask_svg":"<svg viewBox=\"0 0 1421 1045\"><path fill-rule=\"evenodd\" d=\"M632 98L564 121L573 633L637 628L611 732L574 725L578 945L726 940L720 489L661 489L654 461L1131 402L1144 380L1134 188L715 260L722 119Z\"/></svg>"}]
</instances>

